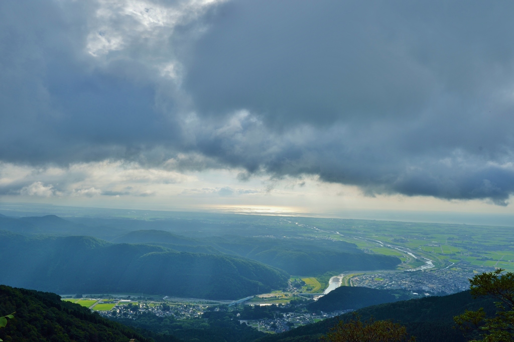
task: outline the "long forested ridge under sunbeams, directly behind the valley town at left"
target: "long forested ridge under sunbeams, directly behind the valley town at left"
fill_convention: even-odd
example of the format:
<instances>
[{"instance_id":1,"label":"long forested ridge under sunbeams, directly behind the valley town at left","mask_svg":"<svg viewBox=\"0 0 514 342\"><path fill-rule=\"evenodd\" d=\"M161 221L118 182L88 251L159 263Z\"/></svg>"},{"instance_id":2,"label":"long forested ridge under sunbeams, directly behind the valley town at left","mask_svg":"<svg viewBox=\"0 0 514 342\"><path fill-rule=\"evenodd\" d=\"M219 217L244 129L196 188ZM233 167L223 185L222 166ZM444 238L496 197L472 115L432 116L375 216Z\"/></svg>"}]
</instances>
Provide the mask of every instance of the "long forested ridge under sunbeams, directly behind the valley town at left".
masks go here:
<instances>
[{"instance_id":1,"label":"long forested ridge under sunbeams, directly behind the valley town at left","mask_svg":"<svg viewBox=\"0 0 514 342\"><path fill-rule=\"evenodd\" d=\"M236 299L287 285L286 272L237 256L91 237L0 231L0 283L56 293L147 293Z\"/></svg>"}]
</instances>

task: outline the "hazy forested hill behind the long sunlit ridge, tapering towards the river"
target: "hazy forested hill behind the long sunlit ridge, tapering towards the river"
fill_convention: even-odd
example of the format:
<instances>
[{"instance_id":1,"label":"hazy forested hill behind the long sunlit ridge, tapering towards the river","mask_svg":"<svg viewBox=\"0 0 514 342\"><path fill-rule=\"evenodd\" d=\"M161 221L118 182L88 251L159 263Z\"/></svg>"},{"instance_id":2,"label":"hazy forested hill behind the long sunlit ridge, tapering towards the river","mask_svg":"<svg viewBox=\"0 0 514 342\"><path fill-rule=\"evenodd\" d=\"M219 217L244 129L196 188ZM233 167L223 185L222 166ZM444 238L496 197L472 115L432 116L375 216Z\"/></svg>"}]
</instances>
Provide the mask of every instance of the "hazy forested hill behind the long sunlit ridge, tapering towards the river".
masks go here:
<instances>
[{"instance_id":1,"label":"hazy forested hill behind the long sunlit ridge, tapering towards the river","mask_svg":"<svg viewBox=\"0 0 514 342\"><path fill-rule=\"evenodd\" d=\"M289 274L322 274L368 269L394 269L397 257L365 254L355 244L326 239L288 239L276 237L223 236L191 239L162 230L137 230L113 242L200 245L212 248L207 253L225 253L263 262L284 269ZM176 249L175 247L172 247Z\"/></svg>"}]
</instances>

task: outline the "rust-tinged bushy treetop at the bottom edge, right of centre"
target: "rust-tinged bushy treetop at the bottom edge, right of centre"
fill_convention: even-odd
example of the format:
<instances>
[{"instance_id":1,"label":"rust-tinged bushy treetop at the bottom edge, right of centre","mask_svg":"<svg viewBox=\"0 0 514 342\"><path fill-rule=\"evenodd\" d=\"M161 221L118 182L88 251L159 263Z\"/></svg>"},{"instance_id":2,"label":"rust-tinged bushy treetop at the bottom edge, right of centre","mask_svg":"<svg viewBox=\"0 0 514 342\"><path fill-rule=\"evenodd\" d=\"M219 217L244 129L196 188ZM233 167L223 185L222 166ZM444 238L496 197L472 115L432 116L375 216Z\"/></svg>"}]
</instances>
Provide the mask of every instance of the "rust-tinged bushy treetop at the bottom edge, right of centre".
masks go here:
<instances>
[{"instance_id":1,"label":"rust-tinged bushy treetop at the bottom edge, right of centre","mask_svg":"<svg viewBox=\"0 0 514 342\"><path fill-rule=\"evenodd\" d=\"M353 314L348 322L342 320L321 337L323 342L414 342L407 329L391 320L374 320L362 322L360 316Z\"/></svg>"}]
</instances>

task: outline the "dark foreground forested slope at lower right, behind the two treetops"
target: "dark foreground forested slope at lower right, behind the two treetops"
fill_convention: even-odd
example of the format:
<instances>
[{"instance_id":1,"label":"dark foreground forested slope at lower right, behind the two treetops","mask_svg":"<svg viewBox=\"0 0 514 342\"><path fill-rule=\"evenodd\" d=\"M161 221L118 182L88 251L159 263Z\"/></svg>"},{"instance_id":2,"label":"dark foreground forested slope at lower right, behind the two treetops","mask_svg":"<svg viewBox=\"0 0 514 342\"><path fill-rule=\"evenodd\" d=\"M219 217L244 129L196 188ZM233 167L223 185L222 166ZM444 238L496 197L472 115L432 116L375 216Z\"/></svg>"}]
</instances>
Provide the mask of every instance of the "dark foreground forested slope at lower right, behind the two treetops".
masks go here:
<instances>
[{"instance_id":1,"label":"dark foreground forested slope at lower right, behind the two treetops","mask_svg":"<svg viewBox=\"0 0 514 342\"><path fill-rule=\"evenodd\" d=\"M496 311L491 299L473 299L469 291L444 297L426 297L374 305L358 310L362 319L391 319L407 327L409 334L417 342L465 342L465 337L458 329L453 329L453 317L463 314L465 310L485 308L488 315ZM299 327L286 333L270 335L259 342L318 342L322 334L327 333L340 319L347 320L351 314L325 319L321 322Z\"/></svg>"}]
</instances>

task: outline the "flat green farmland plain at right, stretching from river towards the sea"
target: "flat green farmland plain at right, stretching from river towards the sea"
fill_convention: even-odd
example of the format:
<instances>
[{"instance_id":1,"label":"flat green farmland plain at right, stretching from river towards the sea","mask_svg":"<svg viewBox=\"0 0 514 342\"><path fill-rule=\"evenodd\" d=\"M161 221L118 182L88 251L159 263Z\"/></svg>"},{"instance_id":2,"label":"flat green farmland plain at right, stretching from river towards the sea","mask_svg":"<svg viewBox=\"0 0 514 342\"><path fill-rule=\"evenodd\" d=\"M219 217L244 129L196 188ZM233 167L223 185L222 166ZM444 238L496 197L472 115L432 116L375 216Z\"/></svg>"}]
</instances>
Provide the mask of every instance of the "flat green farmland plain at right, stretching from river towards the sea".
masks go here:
<instances>
[{"instance_id":1,"label":"flat green farmland plain at right, stretching from river towards the sea","mask_svg":"<svg viewBox=\"0 0 514 342\"><path fill-rule=\"evenodd\" d=\"M400 270L419 267L427 258L436 268L458 264L514 271L511 227L317 218L283 222L305 237L351 242L368 253L397 256Z\"/></svg>"}]
</instances>

